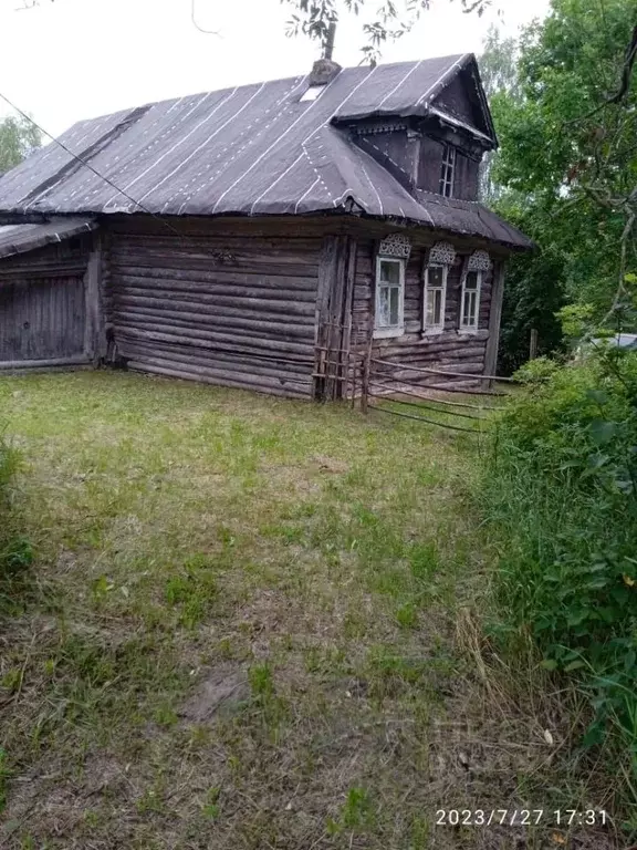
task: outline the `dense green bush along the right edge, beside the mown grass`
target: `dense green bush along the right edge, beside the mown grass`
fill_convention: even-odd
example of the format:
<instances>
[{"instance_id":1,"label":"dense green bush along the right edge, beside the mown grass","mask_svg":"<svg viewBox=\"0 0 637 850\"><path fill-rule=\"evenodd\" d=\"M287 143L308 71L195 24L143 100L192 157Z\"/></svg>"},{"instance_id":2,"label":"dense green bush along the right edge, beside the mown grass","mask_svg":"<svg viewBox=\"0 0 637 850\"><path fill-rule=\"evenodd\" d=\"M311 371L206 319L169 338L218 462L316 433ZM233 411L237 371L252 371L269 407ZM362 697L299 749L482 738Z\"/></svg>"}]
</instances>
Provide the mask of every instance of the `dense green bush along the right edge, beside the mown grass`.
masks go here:
<instances>
[{"instance_id":1,"label":"dense green bush along the right edge, beside the mown grass","mask_svg":"<svg viewBox=\"0 0 637 850\"><path fill-rule=\"evenodd\" d=\"M501 632L531 634L545 667L577 678L594 709L584 744L619 738L635 795L637 353L519 376L482 484L502 542Z\"/></svg>"}]
</instances>

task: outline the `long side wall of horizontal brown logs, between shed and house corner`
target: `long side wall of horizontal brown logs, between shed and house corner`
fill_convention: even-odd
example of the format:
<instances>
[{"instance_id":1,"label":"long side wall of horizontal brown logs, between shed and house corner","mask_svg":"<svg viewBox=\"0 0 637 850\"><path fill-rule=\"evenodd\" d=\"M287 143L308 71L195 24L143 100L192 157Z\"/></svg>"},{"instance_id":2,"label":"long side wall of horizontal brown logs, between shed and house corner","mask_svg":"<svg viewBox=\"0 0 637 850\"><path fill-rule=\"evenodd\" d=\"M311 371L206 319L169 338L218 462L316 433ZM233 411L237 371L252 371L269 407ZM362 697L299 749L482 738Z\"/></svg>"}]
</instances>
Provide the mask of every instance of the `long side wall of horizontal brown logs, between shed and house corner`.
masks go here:
<instances>
[{"instance_id":1,"label":"long side wall of horizontal brown logs, between shed and house corner","mask_svg":"<svg viewBox=\"0 0 637 850\"><path fill-rule=\"evenodd\" d=\"M312 395L321 229L128 219L109 230L107 330L129 369Z\"/></svg>"}]
</instances>

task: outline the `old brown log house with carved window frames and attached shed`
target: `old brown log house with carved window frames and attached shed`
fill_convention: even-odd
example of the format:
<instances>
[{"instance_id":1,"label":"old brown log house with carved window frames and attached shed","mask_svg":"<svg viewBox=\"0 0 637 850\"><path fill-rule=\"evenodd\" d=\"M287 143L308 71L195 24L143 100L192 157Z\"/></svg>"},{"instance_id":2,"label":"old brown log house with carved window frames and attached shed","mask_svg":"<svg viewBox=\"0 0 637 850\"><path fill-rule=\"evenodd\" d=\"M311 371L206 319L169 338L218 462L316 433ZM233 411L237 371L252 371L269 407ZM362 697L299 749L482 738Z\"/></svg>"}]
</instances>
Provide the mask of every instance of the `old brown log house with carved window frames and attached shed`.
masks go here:
<instances>
[{"instance_id":1,"label":"old brown log house with carved window frames and attached shed","mask_svg":"<svg viewBox=\"0 0 637 850\"><path fill-rule=\"evenodd\" d=\"M338 397L372 342L492 374L505 261L531 247L478 201L495 146L471 54L320 60L81 122L0 178L0 369Z\"/></svg>"}]
</instances>

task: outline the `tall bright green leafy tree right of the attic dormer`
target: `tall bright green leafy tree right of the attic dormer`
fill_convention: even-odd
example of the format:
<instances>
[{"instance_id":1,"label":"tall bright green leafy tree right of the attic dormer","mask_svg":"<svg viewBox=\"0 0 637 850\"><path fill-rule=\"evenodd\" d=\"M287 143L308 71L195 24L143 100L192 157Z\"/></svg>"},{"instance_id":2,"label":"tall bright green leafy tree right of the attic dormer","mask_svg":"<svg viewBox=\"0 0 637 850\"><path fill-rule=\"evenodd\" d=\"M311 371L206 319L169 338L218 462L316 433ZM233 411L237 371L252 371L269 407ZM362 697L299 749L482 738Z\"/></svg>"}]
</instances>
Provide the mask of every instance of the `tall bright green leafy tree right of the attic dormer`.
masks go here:
<instances>
[{"instance_id":1,"label":"tall bright green leafy tree right of the attic dormer","mask_svg":"<svg viewBox=\"0 0 637 850\"><path fill-rule=\"evenodd\" d=\"M523 34L522 97L498 102L495 179L526 196L599 318L637 260L637 0L552 0Z\"/></svg>"}]
</instances>

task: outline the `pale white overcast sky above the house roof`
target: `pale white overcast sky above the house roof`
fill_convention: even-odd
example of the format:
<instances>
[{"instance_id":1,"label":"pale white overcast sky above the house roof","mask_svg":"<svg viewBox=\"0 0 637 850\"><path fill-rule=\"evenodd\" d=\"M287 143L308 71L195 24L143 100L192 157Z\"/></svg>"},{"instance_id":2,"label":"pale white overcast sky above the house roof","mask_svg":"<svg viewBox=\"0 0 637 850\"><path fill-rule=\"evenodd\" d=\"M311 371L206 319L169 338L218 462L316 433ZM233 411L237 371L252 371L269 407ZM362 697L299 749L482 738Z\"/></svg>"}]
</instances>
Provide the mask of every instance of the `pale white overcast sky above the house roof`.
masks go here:
<instances>
[{"instance_id":1,"label":"pale white overcast sky above the house roof","mask_svg":"<svg viewBox=\"0 0 637 850\"><path fill-rule=\"evenodd\" d=\"M285 38L279 0L0 0L0 92L60 134L80 118L201 91L310 70L317 46ZM376 6L372 0L370 6ZM459 0L432 0L413 32L389 44L384 62L479 52L489 25L508 32L543 17L549 0L494 0L479 19ZM361 22L340 25L334 58L361 61ZM0 102L0 115L9 110Z\"/></svg>"}]
</instances>

